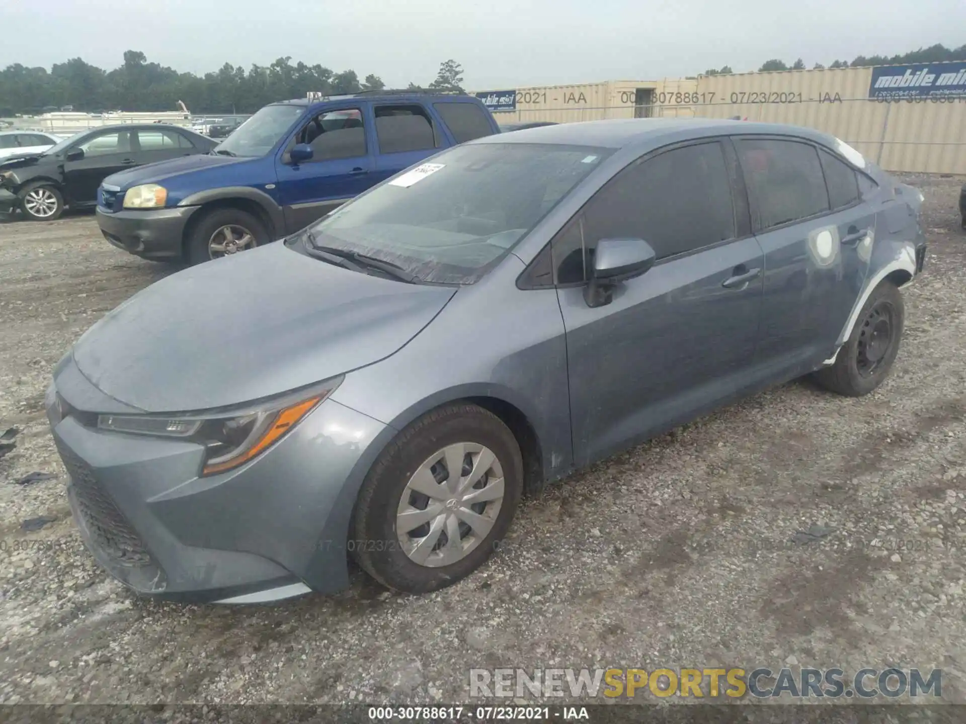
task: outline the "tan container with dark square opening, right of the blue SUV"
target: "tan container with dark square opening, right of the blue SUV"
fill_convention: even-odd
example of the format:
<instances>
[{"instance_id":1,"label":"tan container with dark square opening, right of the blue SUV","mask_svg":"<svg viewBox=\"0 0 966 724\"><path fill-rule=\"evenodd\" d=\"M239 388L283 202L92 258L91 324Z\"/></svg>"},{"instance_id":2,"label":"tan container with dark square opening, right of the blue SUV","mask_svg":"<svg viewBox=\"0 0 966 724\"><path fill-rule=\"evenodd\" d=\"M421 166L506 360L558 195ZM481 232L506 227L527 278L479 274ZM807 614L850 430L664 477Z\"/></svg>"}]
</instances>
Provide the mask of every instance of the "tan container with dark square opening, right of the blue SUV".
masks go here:
<instances>
[{"instance_id":1,"label":"tan container with dark square opening, right of the blue SUV","mask_svg":"<svg viewBox=\"0 0 966 724\"><path fill-rule=\"evenodd\" d=\"M517 88L516 109L494 115L500 125L553 122L599 121L609 118L646 118L659 115L662 104L674 103L676 94L693 93L696 79L611 80L572 86L530 86ZM498 93L511 89L474 91ZM679 100L683 100L683 97ZM669 115L694 115L687 106L675 107Z\"/></svg>"}]
</instances>

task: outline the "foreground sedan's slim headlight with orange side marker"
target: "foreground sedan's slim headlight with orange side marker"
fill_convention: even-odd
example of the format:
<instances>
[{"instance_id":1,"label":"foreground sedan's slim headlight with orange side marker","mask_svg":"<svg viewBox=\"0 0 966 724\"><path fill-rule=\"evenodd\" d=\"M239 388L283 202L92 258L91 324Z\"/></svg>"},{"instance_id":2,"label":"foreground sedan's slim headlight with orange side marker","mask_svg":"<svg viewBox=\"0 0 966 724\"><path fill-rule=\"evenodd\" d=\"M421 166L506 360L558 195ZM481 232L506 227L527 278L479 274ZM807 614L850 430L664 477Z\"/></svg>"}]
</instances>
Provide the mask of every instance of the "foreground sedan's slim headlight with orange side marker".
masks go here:
<instances>
[{"instance_id":1,"label":"foreground sedan's slim headlight with orange side marker","mask_svg":"<svg viewBox=\"0 0 966 724\"><path fill-rule=\"evenodd\" d=\"M339 386L342 377L262 404L234 410L185 414L99 415L98 427L113 432L177 437L205 446L201 474L213 475L238 467L268 450Z\"/></svg>"}]
</instances>

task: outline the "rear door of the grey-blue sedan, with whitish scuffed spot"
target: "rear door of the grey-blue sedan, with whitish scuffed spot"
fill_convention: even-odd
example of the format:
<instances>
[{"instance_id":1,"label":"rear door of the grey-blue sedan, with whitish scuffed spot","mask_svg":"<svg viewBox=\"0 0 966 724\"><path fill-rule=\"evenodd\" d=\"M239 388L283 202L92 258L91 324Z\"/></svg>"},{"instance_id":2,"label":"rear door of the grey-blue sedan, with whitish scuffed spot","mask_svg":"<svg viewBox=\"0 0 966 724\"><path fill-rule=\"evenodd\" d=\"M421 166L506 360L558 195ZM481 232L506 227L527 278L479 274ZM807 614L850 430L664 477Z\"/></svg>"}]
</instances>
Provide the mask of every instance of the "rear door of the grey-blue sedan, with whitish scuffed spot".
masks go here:
<instances>
[{"instance_id":1,"label":"rear door of the grey-blue sedan, with whitish scuffed spot","mask_svg":"<svg viewBox=\"0 0 966 724\"><path fill-rule=\"evenodd\" d=\"M866 279L875 214L833 153L787 136L734 143L765 253L755 360L776 376L805 374L835 351Z\"/></svg>"}]
</instances>

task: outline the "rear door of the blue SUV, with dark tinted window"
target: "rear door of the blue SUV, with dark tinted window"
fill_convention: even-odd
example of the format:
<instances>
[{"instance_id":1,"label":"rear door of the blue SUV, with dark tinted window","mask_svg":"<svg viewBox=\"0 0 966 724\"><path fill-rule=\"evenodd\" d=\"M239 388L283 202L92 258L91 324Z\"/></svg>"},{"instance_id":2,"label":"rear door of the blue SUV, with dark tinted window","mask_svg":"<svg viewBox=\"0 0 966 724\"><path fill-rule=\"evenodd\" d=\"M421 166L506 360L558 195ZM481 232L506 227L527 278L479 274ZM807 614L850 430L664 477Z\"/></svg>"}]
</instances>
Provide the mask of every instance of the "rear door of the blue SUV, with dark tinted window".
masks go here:
<instances>
[{"instance_id":1,"label":"rear door of the blue SUV, with dark tinted window","mask_svg":"<svg viewBox=\"0 0 966 724\"><path fill-rule=\"evenodd\" d=\"M420 103L376 103L373 116L377 156L371 185L448 145L437 121Z\"/></svg>"}]
</instances>

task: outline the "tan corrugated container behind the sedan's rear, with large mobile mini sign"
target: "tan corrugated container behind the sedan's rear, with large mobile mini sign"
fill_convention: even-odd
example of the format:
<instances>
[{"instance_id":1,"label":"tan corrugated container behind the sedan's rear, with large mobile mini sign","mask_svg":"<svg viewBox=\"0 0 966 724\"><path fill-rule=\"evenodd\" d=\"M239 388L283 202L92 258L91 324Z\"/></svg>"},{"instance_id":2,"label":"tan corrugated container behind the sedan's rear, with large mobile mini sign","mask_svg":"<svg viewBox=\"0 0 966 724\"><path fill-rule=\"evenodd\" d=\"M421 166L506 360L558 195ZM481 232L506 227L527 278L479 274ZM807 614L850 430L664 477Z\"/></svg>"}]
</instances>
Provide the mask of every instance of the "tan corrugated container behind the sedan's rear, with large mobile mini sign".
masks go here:
<instances>
[{"instance_id":1,"label":"tan corrugated container behind the sedan's rear, with large mobile mini sign","mask_svg":"<svg viewBox=\"0 0 966 724\"><path fill-rule=\"evenodd\" d=\"M886 102L868 97L871 78L871 68L701 75L694 110L816 128L891 171L966 174L966 97Z\"/></svg>"}]
</instances>

